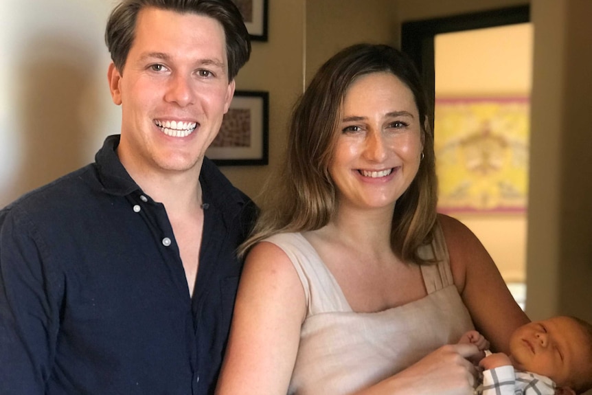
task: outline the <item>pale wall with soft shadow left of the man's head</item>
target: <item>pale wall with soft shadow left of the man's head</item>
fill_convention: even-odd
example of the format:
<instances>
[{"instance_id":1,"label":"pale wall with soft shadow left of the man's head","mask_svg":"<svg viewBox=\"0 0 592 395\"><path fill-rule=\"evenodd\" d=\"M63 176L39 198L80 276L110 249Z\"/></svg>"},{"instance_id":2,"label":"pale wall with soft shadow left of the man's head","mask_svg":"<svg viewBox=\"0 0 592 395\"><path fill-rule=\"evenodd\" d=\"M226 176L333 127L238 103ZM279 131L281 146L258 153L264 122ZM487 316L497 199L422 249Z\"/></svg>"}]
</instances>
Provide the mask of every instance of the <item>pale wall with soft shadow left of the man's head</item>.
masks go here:
<instances>
[{"instance_id":1,"label":"pale wall with soft shadow left of the man's head","mask_svg":"<svg viewBox=\"0 0 592 395\"><path fill-rule=\"evenodd\" d=\"M119 133L111 102L106 0L2 0L0 206L93 160Z\"/></svg>"}]
</instances>

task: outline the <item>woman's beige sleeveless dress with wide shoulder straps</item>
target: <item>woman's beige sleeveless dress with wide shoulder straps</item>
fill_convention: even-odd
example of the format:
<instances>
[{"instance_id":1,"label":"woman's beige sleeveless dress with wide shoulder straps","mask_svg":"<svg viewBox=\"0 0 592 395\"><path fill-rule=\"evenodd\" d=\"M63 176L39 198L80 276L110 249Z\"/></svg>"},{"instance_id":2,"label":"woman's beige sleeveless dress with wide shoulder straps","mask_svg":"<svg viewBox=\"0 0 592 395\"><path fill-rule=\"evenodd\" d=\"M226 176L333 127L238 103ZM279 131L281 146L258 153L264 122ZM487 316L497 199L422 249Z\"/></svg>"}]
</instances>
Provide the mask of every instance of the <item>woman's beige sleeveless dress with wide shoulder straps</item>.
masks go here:
<instances>
[{"instance_id":1,"label":"woman's beige sleeveless dress with wide shoulder straps","mask_svg":"<svg viewBox=\"0 0 592 395\"><path fill-rule=\"evenodd\" d=\"M299 275L308 312L288 394L345 395L369 387L456 343L473 322L453 284L440 227L420 251L438 264L422 266L428 295L378 313L352 311L317 251L299 233L266 241L280 247Z\"/></svg>"}]
</instances>

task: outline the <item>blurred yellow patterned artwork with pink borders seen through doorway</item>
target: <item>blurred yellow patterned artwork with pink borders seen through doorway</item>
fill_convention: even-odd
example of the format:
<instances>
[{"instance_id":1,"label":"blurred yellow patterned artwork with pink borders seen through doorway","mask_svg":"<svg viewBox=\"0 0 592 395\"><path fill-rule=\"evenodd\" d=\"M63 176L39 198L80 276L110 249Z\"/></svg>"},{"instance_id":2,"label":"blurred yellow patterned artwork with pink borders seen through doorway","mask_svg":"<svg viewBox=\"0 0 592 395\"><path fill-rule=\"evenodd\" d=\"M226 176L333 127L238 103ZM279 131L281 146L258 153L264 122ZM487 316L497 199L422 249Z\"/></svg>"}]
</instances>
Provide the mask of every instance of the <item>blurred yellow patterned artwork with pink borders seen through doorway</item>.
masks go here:
<instances>
[{"instance_id":1,"label":"blurred yellow patterned artwork with pink borders seen through doorway","mask_svg":"<svg viewBox=\"0 0 592 395\"><path fill-rule=\"evenodd\" d=\"M440 212L525 210L529 112L527 99L436 100Z\"/></svg>"}]
</instances>

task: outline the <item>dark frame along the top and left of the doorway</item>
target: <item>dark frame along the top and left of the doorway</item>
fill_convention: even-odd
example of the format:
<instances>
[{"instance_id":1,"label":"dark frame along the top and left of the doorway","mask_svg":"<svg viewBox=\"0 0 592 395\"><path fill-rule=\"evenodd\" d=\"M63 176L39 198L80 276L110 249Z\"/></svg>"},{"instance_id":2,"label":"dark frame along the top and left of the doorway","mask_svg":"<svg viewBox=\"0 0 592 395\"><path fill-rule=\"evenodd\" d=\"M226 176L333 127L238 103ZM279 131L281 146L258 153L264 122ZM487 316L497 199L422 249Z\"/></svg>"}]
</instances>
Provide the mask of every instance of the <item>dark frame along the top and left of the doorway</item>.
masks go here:
<instances>
[{"instance_id":1,"label":"dark frame along the top and left of the doorway","mask_svg":"<svg viewBox=\"0 0 592 395\"><path fill-rule=\"evenodd\" d=\"M432 130L435 102L434 38L436 34L528 22L530 22L530 5L402 23L401 50L413 60L426 87L431 107L429 115Z\"/></svg>"}]
</instances>

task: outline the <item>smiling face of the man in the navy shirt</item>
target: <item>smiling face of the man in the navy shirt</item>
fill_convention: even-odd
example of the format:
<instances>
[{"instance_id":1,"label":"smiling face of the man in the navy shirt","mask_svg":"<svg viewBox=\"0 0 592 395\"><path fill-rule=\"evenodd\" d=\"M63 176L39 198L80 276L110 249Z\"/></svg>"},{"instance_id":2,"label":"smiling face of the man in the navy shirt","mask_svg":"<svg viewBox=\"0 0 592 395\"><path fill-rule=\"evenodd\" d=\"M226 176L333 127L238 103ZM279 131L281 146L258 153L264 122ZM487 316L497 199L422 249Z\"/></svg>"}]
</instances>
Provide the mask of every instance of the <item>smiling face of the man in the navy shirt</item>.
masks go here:
<instances>
[{"instance_id":1,"label":"smiling face of the man in the navy shirt","mask_svg":"<svg viewBox=\"0 0 592 395\"><path fill-rule=\"evenodd\" d=\"M123 72L109 68L122 105L117 154L132 174L199 170L234 94L225 33L215 19L145 8Z\"/></svg>"}]
</instances>

